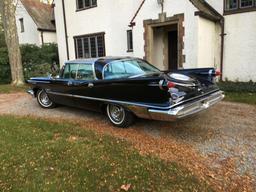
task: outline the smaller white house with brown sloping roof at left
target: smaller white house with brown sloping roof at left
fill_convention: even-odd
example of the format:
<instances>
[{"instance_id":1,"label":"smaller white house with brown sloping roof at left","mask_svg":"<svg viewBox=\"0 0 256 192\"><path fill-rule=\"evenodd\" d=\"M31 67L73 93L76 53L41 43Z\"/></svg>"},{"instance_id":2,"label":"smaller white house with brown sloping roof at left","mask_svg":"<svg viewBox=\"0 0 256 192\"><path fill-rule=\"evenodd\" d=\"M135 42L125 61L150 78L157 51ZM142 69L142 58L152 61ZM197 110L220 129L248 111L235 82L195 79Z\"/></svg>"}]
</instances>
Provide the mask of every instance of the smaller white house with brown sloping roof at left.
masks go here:
<instances>
[{"instance_id":1,"label":"smaller white house with brown sloping roof at left","mask_svg":"<svg viewBox=\"0 0 256 192\"><path fill-rule=\"evenodd\" d=\"M18 0L16 23L20 44L57 43L51 5L39 0Z\"/></svg>"}]
</instances>

